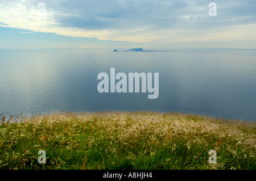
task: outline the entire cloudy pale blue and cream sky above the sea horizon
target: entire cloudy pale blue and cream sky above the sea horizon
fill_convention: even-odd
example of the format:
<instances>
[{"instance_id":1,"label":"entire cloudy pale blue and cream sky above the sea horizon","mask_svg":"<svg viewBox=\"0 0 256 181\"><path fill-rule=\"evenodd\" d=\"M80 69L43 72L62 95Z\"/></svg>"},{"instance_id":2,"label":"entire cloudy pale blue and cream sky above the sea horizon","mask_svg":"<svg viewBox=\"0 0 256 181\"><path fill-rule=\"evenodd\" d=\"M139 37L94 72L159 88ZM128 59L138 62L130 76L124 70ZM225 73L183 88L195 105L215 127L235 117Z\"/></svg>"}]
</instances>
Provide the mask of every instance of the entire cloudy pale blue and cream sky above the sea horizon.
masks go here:
<instances>
[{"instance_id":1,"label":"entire cloudy pale blue and cream sky above the sea horizon","mask_svg":"<svg viewBox=\"0 0 256 181\"><path fill-rule=\"evenodd\" d=\"M255 0L0 0L0 48L255 49L255 32Z\"/></svg>"}]
</instances>

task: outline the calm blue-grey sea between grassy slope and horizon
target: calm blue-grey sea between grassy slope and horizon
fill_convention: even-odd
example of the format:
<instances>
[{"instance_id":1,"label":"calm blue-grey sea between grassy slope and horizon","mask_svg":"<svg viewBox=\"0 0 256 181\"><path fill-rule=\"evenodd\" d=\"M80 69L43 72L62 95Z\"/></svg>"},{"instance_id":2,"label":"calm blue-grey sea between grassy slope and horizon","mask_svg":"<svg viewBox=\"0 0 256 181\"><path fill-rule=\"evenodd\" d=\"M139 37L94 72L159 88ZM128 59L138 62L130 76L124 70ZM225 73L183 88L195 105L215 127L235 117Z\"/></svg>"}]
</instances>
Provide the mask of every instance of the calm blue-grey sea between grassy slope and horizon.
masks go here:
<instances>
[{"instance_id":1,"label":"calm blue-grey sea between grassy slope and horizon","mask_svg":"<svg viewBox=\"0 0 256 181\"><path fill-rule=\"evenodd\" d=\"M159 96L100 93L101 72L159 73ZM117 81L116 81L117 82ZM256 121L256 50L0 49L0 113L160 111Z\"/></svg>"}]
</instances>

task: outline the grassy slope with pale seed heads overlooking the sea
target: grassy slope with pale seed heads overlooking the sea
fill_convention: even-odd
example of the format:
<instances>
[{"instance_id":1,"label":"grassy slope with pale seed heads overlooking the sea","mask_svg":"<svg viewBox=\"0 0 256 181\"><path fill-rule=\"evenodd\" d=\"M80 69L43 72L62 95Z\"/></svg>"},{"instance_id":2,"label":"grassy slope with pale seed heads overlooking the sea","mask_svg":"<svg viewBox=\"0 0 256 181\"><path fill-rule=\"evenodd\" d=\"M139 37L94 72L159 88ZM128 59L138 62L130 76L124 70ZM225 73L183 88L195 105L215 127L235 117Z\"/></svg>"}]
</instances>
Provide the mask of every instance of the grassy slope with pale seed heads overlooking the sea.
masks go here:
<instances>
[{"instance_id":1,"label":"grassy slope with pale seed heads overlooking the sea","mask_svg":"<svg viewBox=\"0 0 256 181\"><path fill-rule=\"evenodd\" d=\"M0 169L256 169L256 122L158 112L1 117Z\"/></svg>"}]
</instances>

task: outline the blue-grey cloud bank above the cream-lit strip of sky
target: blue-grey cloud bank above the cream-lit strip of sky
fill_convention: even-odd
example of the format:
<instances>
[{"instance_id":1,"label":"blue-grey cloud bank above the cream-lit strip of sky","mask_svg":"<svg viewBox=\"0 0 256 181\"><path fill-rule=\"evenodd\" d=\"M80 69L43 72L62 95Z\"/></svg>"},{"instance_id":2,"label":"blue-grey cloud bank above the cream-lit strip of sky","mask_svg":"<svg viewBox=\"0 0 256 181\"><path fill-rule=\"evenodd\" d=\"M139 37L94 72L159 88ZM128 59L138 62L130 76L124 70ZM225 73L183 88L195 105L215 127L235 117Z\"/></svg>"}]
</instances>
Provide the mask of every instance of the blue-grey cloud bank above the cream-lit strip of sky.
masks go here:
<instances>
[{"instance_id":1,"label":"blue-grey cloud bank above the cream-lit strip of sky","mask_svg":"<svg viewBox=\"0 0 256 181\"><path fill-rule=\"evenodd\" d=\"M255 22L255 2L214 1L217 17L208 15L212 1L48 1L64 27L88 30L152 28L212 28ZM184 19L184 16L189 18ZM249 16L239 19L241 16ZM236 19L234 21L234 19Z\"/></svg>"}]
</instances>

